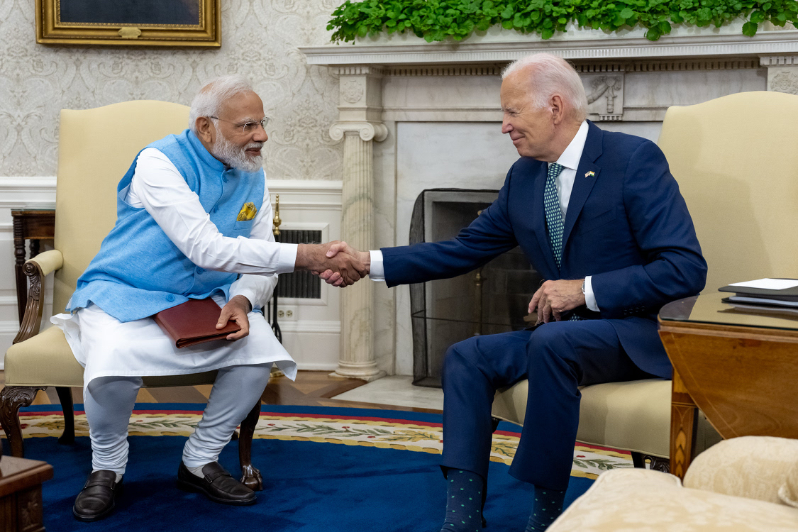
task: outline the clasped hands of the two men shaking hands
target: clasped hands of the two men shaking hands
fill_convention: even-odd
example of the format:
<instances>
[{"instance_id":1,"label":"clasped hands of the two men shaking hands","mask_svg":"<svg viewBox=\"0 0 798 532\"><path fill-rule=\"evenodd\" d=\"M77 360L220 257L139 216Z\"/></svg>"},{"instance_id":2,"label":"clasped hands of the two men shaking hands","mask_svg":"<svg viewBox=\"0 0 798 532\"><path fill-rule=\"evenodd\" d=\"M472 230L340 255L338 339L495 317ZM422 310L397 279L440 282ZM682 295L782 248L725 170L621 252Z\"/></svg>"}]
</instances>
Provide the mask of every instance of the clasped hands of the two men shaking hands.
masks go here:
<instances>
[{"instance_id":1,"label":"clasped hands of the two men shaking hands","mask_svg":"<svg viewBox=\"0 0 798 532\"><path fill-rule=\"evenodd\" d=\"M346 242L299 244L294 270L308 270L333 286L350 286L369 274L371 255Z\"/></svg>"}]
</instances>

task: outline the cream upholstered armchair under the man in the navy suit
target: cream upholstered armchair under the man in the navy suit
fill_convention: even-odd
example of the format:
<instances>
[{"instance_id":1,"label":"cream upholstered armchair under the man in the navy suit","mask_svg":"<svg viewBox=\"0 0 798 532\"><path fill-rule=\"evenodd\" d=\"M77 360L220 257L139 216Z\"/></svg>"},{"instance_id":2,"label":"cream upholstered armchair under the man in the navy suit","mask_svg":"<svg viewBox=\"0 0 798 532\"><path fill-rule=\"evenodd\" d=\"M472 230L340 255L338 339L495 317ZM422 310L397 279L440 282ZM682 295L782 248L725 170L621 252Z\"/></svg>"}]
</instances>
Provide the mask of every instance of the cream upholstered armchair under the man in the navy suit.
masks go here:
<instances>
[{"instance_id":1,"label":"cream upholstered armchair under the man in the navy suit","mask_svg":"<svg viewBox=\"0 0 798 532\"><path fill-rule=\"evenodd\" d=\"M658 144L709 264L705 294L731 282L798 277L798 96L738 93L671 107ZM600 302L599 302L600 303ZM582 389L579 442L632 451L668 471L670 380ZM493 416L523 424L527 381L496 394ZM696 449L720 436L701 414Z\"/></svg>"}]
</instances>

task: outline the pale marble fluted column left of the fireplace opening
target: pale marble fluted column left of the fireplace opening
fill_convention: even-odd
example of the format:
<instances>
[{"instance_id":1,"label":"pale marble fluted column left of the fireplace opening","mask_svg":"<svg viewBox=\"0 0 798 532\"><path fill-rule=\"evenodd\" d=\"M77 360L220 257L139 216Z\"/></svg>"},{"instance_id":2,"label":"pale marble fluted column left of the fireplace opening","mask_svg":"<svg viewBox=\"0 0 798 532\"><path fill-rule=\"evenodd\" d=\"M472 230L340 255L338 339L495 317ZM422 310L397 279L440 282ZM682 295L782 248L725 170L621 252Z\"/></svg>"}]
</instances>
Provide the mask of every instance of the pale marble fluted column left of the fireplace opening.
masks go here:
<instances>
[{"instance_id":1,"label":"pale marble fluted column left of the fireplace opening","mask_svg":"<svg viewBox=\"0 0 798 532\"><path fill-rule=\"evenodd\" d=\"M373 142L388 130L381 115L381 71L373 67L337 69L341 120L330 128L333 140L343 140L341 239L358 250L373 248ZM334 376L374 380L372 282L364 279L341 292L341 352Z\"/></svg>"}]
</instances>

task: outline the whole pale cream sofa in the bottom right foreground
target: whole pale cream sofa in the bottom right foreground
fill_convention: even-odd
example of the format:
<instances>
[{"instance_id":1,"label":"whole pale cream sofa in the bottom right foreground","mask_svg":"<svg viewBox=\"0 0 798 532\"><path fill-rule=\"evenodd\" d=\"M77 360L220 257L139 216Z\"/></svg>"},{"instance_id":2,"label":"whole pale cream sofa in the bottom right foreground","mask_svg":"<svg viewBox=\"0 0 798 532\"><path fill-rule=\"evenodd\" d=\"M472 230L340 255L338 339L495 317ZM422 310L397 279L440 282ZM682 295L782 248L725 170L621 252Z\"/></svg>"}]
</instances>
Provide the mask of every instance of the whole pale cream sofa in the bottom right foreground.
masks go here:
<instances>
[{"instance_id":1,"label":"whole pale cream sofa in the bottom right foreground","mask_svg":"<svg viewBox=\"0 0 798 532\"><path fill-rule=\"evenodd\" d=\"M798 440L726 439L674 475L607 471L548 532L794 532L798 530Z\"/></svg>"}]
</instances>

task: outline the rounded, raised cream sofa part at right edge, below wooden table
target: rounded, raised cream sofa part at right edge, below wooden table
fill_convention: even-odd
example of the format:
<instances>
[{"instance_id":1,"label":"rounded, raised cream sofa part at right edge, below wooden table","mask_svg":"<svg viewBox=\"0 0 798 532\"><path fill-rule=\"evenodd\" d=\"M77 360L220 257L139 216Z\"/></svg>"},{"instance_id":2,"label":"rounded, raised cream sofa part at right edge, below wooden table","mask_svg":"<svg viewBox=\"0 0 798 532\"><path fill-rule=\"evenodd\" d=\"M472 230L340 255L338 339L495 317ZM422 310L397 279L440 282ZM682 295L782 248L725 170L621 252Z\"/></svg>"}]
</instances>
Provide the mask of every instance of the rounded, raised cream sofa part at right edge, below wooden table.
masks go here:
<instances>
[{"instance_id":1,"label":"rounded, raised cream sofa part at right edge, below wooden table","mask_svg":"<svg viewBox=\"0 0 798 532\"><path fill-rule=\"evenodd\" d=\"M798 439L724 439L697 455L687 470L684 486L779 503L779 489L796 463Z\"/></svg>"}]
</instances>

